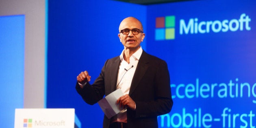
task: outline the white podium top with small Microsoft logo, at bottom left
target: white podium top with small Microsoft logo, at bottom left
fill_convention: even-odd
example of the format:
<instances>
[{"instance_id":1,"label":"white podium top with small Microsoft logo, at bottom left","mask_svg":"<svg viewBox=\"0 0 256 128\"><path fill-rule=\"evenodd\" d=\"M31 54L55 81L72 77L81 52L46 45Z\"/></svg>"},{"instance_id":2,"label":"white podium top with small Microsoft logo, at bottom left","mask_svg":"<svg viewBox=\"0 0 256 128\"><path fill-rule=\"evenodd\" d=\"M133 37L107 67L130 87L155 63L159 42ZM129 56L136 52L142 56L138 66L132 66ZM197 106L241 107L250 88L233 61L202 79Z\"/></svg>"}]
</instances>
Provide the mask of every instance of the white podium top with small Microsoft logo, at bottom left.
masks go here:
<instances>
[{"instance_id":1,"label":"white podium top with small Microsoft logo, at bottom left","mask_svg":"<svg viewBox=\"0 0 256 128\"><path fill-rule=\"evenodd\" d=\"M79 128L74 108L16 108L14 128Z\"/></svg>"}]
</instances>

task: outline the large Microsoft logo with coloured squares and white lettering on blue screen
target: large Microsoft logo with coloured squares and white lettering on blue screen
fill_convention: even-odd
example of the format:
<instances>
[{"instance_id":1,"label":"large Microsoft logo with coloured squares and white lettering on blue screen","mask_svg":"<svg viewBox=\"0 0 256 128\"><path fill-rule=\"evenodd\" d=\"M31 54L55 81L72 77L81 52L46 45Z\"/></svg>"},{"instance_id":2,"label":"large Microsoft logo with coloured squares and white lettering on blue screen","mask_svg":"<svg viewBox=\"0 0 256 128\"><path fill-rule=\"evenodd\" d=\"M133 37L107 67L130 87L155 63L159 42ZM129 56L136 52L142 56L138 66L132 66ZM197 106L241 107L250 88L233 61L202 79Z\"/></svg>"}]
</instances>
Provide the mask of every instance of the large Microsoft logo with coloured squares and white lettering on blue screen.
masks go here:
<instances>
[{"instance_id":1,"label":"large Microsoft logo with coloured squares and white lettering on blue screen","mask_svg":"<svg viewBox=\"0 0 256 128\"><path fill-rule=\"evenodd\" d=\"M229 19L229 18L225 18ZM165 17L156 17L155 40L172 40L175 39L175 16L169 15ZM178 20L177 20L178 21ZM243 30L251 30L249 23L252 19L249 15L242 13L240 18L232 18L231 20L200 20L200 18L190 18L185 21L180 19L178 23L179 35L188 34L206 34L206 33L226 33Z\"/></svg>"}]
</instances>

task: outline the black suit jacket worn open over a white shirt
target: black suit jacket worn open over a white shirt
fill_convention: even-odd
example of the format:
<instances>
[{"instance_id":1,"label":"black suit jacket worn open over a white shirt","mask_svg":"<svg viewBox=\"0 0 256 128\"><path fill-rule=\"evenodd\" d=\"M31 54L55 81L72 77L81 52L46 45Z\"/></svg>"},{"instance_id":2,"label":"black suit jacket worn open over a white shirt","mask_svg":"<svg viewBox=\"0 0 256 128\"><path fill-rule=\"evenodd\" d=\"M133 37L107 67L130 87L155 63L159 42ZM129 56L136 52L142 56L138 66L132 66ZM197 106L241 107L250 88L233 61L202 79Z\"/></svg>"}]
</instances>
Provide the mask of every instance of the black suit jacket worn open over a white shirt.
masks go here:
<instances>
[{"instance_id":1,"label":"black suit jacket worn open over a white shirt","mask_svg":"<svg viewBox=\"0 0 256 128\"><path fill-rule=\"evenodd\" d=\"M120 57L108 59L95 82L82 89L76 84L77 92L88 104L95 104L116 90ZM170 78L165 61L142 52L129 91L136 103L136 110L127 109L128 128L157 128L157 116L169 113L173 105ZM110 119L104 116L103 128L108 128Z\"/></svg>"}]
</instances>

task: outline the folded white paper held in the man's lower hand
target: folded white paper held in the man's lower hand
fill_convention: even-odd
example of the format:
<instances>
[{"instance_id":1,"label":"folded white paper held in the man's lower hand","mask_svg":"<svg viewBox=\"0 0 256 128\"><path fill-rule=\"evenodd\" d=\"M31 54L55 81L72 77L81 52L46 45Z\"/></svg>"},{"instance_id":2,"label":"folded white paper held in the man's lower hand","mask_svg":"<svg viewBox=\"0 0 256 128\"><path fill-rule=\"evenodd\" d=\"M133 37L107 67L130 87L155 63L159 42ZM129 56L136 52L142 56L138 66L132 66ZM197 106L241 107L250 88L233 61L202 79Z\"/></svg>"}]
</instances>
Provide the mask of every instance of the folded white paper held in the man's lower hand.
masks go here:
<instances>
[{"instance_id":1,"label":"folded white paper held in the man's lower hand","mask_svg":"<svg viewBox=\"0 0 256 128\"><path fill-rule=\"evenodd\" d=\"M122 95L124 95L124 93L121 91L121 89L117 89L98 102L100 108L108 117L108 119L124 109L120 108L119 105L116 104L117 99Z\"/></svg>"}]
</instances>

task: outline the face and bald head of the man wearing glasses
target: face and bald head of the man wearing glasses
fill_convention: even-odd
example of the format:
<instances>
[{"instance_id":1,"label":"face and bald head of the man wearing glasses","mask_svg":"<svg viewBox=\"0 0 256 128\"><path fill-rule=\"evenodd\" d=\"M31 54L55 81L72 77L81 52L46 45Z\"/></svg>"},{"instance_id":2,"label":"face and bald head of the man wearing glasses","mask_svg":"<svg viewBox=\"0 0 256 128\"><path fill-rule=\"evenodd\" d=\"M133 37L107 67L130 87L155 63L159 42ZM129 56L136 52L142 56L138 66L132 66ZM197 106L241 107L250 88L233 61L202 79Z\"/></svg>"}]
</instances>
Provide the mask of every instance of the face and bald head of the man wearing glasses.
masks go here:
<instances>
[{"instance_id":1,"label":"face and bald head of the man wearing glasses","mask_svg":"<svg viewBox=\"0 0 256 128\"><path fill-rule=\"evenodd\" d=\"M124 19L119 26L119 32L124 29L130 30L128 35L124 35L123 33L118 34L118 37L122 42L122 44L124 45L124 47L130 50L139 49L140 43L143 41L145 37L145 33L133 34L131 30L135 28L139 30L143 29L140 22L137 19L132 17L128 17Z\"/></svg>"}]
</instances>

